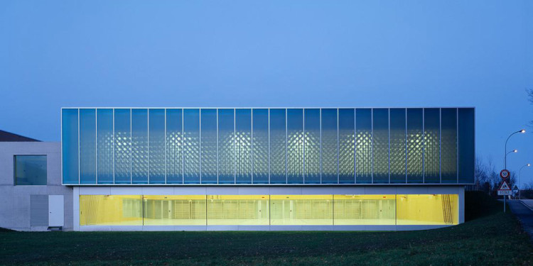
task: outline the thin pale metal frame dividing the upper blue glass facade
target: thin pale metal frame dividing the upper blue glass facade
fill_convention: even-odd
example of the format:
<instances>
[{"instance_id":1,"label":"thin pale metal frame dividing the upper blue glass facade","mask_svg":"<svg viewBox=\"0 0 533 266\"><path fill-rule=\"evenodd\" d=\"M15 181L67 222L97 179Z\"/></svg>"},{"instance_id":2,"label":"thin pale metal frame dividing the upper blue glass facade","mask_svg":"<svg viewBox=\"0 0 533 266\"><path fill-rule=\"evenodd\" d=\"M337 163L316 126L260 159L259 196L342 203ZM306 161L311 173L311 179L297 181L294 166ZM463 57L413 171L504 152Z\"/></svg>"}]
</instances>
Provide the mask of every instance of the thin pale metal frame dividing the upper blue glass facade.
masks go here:
<instances>
[{"instance_id":1,"label":"thin pale metal frame dividing the upper blue glass facade","mask_svg":"<svg viewBox=\"0 0 533 266\"><path fill-rule=\"evenodd\" d=\"M406 143L405 143L405 157L406 157L406 163L405 163L405 175L406 175L406 185L416 185L416 183L408 183L408 173L407 173L407 109L409 108L416 108L416 109L422 109L422 183L420 184L442 184L442 155L441 155L441 151L442 151L442 109L443 108L454 108L456 109L456 174L457 174L457 182L455 184L463 184L463 183L459 183L458 180L459 180L459 156L458 156L458 153L459 153L459 140L458 140L458 123L459 123L459 117L458 117L458 111L459 111L459 108L470 108L470 109L474 109L474 123L475 123L475 108L473 107L431 107L431 108L438 108L439 109L439 136L438 136L438 139L439 139L439 183L426 183L426 180L425 180L425 158L424 158L424 155L425 155L425 140L424 140L424 137L426 135L426 128L425 128L425 107L380 107L380 108L383 108L383 109L388 109L388 113L389 113L389 116L388 116L388 128L389 128L389 132L388 132L388 175L389 175L389 182L388 183L382 183L382 184L375 184L374 183L374 148L373 148L373 137L374 137L374 119L373 119L373 116L374 116L374 108L370 108L371 110L371 120L372 120L372 185L389 185L389 184L393 184L391 183L391 154L390 154L390 148L391 148L391 136L390 136L390 123L391 123L391 118L390 118L390 109L394 108L394 109L397 109L397 108L400 108L400 109L404 109L405 110L405 123L406 123L406 126L405 126L405 140L406 140ZM428 107L429 108L429 107ZM115 146L115 125L114 125L114 121L115 121L115 109L130 109L129 111L129 115L130 115L130 184L132 185L141 185L141 186L146 186L147 184L148 185L157 185L157 186L164 186L164 185L177 185L177 184L168 184L168 162L167 162L167 153L168 153L168 148L167 148L167 110L168 109L174 109L174 108L171 108L171 107L164 107L164 108L156 108L156 107L153 107L153 108L148 108L148 107L117 107L117 108L113 108L113 107L82 107L82 108L76 108L76 107L65 107L65 108L62 108L61 109L61 113L60 113L60 120L61 120L61 150L62 150L62 154L61 154L61 167L62 167L62 170L61 170L61 182L63 184L63 109L77 109L77 142L78 142L78 184L64 184L64 185L75 185L75 186L95 186L95 185L106 185L106 186L109 186L109 185L124 185L124 184L99 184L98 183L98 157L97 157L97 154L98 154L98 143L97 143L97 116L98 116L98 109L112 109L113 111L113 118L112 118L112 123L113 123L113 146ZM96 140L96 143L95 143L95 175L96 175L96 183L95 184L80 184L80 110L81 109L95 109L95 140ZM132 173L132 165L133 165L133 160L132 160L132 153L133 153L133 148L132 148L132 143L133 143L133 138L132 138L132 116L133 116L133 112L132 110L134 109L146 109L146 115L147 115L147 138L148 138L148 147L147 147L147 160L148 160L148 173L147 173L147 176L148 176L148 183L147 184L133 184L133 173ZM163 109L164 111L164 122L165 122L165 125L164 125L164 138L165 138L165 184L150 184L150 111L151 109ZM219 169L219 148L218 148L218 145L219 145L219 123L218 123L218 111L220 109L227 109L227 108L207 108L207 107L198 107L198 108L195 108L195 107L185 107L185 108L176 108L176 109L181 109L181 119L182 119L182 126L181 126L181 153L182 153L182 159L181 159L181 163L182 163L182 170L181 170L181 176L182 176L182 182L181 184L185 184L185 169L184 169L184 165L185 165L185 128L184 128L184 118L185 118L185 114L184 114L184 111L186 109L198 109L199 111L199 153L200 153L200 161L199 161L199 167L200 167L200 183L198 184L186 184L186 185L193 185L193 186L198 186L198 185L205 185L205 184L202 184L202 162L201 162L201 155L202 155L202 145L201 145L201 134L202 134L202 124L201 124L201 113L202 113L202 109L215 109L216 110L216 116L217 116L217 183L216 184L220 184L220 181L219 181L219 175L220 175L220 169ZM311 107L311 108L306 108L306 107L291 107L291 108L282 108L282 107L279 107L279 108L265 108L265 107L257 107L257 108L254 108L254 107L242 107L242 108L232 108L233 109L233 116L234 116L234 135L233 135L233 153L234 153L234 158L233 158L233 174L234 174L234 183L233 184L222 184L222 185L232 185L232 186L235 186L235 185L240 185L240 186L249 186L249 185L264 185L264 184L254 184L254 141L253 141L253 137L254 137L254 109L267 109L268 110L268 141L269 141L269 145L268 145L268 169L269 169L269 173L268 173L268 179L269 179L269 184L268 185L281 185L281 186L291 186L291 185L296 185L296 186L302 186L302 185L310 185L310 186L315 186L315 185L321 185L321 184L324 184L323 183L323 174L322 174L322 171L323 171L323 158L322 158L322 131L323 131L323 125L322 125L322 111L323 109L332 109L332 108L328 108L328 107L324 107L324 108L321 108L321 107ZM251 116L251 138L252 138L252 152L250 153L250 162L252 164L252 175L251 175L251 182L249 184L237 184L237 170L236 170L236 167L237 167L237 160L236 160L236 145L235 145L235 134L236 134L236 113L237 113L237 109L249 109L250 110L250 116ZM271 184L271 171L270 171L270 163L271 163L271 155L270 155L270 130L271 130L271 127L270 127L270 109L284 109L285 111L285 123L284 123L284 126L285 126L285 177L286 177L286 182L285 184ZM303 182L301 184L289 184L288 183L288 124L287 124L287 118L288 118L288 109L302 109L302 119L303 119L303 172L302 172L302 176L303 176ZM319 110L319 115L320 115L320 183L319 184L306 184L305 180L306 180L306 166L305 166L305 163L306 163L306 126L305 126L305 113L306 113L306 109L318 109ZM353 163L353 167L354 167L354 184L341 184L341 185L369 185L369 184L357 184L357 143L356 143L356 140L357 140L357 118L356 118L356 110L357 109L364 109L364 107L338 107L338 108L333 108L336 110L336 113L337 113L337 184L340 184L340 150L339 150L339 141L340 141L340 121L339 121L339 118L340 118L340 113L339 113L339 110L340 109L353 109L354 111L354 134L353 134L353 138L354 138L354 163ZM475 140L475 126L474 126L474 140ZM474 148L475 148L475 143L474 143ZM115 151L115 147L113 147L113 182L115 182L115 154L116 151ZM475 156L474 156L474 160L475 160ZM126 185L130 185L130 184L126 184ZM446 183L446 184L450 184L450 183ZM451 183L453 184L453 183ZM464 183L464 184L472 184L472 183ZM402 185L402 183L394 183L394 185Z\"/></svg>"}]
</instances>

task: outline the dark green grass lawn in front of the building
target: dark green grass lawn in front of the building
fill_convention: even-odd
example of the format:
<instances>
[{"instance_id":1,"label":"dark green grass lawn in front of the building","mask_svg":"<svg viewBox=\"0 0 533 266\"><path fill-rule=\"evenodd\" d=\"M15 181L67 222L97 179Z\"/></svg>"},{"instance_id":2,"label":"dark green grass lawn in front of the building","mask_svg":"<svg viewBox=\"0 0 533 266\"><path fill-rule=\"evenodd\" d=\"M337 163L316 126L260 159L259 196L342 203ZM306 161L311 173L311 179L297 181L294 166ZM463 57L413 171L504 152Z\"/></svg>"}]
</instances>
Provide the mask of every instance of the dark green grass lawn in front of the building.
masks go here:
<instances>
[{"instance_id":1,"label":"dark green grass lawn in front of the building","mask_svg":"<svg viewBox=\"0 0 533 266\"><path fill-rule=\"evenodd\" d=\"M466 194L467 222L406 232L0 231L0 265L533 265L517 220Z\"/></svg>"}]
</instances>

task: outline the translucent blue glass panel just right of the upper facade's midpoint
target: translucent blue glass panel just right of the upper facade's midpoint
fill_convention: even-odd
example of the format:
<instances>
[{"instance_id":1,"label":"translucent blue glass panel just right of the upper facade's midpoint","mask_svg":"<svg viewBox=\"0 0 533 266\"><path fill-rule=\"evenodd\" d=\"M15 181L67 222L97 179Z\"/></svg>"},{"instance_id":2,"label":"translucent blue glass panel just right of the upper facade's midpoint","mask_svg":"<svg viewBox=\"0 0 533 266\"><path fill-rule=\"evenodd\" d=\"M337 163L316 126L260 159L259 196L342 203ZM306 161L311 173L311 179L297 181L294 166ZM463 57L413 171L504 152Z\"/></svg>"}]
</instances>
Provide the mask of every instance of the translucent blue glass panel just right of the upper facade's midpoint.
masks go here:
<instances>
[{"instance_id":1,"label":"translucent blue glass panel just right of the upper facade's midpoint","mask_svg":"<svg viewBox=\"0 0 533 266\"><path fill-rule=\"evenodd\" d=\"M287 135L285 109L270 109L270 184L285 184Z\"/></svg>"}]
</instances>

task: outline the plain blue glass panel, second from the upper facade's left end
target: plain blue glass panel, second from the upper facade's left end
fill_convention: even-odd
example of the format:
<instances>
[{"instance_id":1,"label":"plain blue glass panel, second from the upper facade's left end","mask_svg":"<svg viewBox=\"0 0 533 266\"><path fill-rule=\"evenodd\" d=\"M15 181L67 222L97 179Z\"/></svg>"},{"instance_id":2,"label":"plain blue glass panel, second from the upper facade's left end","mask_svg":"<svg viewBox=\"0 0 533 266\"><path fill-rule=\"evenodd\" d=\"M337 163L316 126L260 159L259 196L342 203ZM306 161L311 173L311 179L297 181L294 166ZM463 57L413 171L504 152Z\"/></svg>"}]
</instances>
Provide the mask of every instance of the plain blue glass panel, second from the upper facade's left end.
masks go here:
<instances>
[{"instance_id":1,"label":"plain blue glass panel, second from the upper facade's left end","mask_svg":"<svg viewBox=\"0 0 533 266\"><path fill-rule=\"evenodd\" d=\"M80 109L80 184L96 184L95 109Z\"/></svg>"}]
</instances>

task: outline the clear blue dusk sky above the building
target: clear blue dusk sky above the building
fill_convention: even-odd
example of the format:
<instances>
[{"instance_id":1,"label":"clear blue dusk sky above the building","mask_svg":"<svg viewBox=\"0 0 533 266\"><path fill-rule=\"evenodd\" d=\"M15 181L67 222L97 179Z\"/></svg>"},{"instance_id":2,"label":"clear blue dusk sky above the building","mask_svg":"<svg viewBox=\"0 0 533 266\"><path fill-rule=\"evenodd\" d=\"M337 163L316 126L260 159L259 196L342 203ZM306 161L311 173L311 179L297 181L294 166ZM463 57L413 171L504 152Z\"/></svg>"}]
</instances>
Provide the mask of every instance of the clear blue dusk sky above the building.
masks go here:
<instances>
[{"instance_id":1,"label":"clear blue dusk sky above the building","mask_svg":"<svg viewBox=\"0 0 533 266\"><path fill-rule=\"evenodd\" d=\"M0 1L0 129L45 141L63 106L475 106L517 171L527 88L530 0Z\"/></svg>"}]
</instances>

